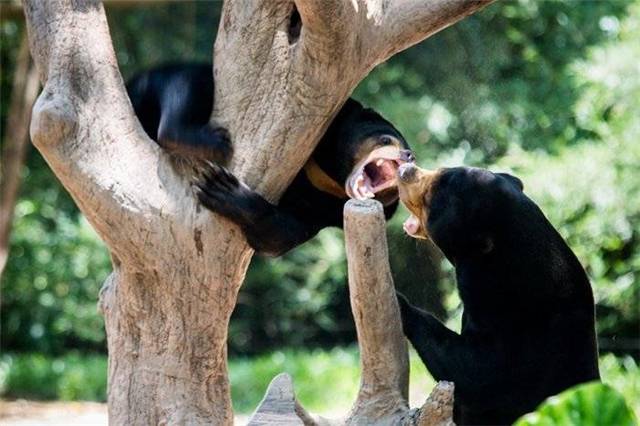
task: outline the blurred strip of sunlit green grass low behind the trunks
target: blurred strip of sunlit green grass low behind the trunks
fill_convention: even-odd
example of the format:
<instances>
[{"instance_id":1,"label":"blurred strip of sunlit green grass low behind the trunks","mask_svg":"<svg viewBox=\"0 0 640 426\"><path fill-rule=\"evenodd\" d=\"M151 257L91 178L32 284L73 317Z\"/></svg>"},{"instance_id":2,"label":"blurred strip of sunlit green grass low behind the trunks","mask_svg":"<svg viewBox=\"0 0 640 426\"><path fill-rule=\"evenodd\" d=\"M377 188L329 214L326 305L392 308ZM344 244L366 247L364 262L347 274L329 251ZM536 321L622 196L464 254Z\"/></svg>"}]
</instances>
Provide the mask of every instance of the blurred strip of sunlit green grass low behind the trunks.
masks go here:
<instances>
[{"instance_id":1,"label":"blurred strip of sunlit green grass low behind the trunks","mask_svg":"<svg viewBox=\"0 0 640 426\"><path fill-rule=\"evenodd\" d=\"M258 357L231 358L229 376L234 409L250 413L273 377L287 372L305 407L326 414L349 409L359 386L358 350L285 350ZM640 367L631 357L600 359L602 380L620 392L640 415ZM104 401L106 356L11 354L0 358L0 396L10 398ZM422 405L435 382L414 351L410 352L410 405ZM331 412L329 412L331 411ZM606 423L601 423L605 425Z\"/></svg>"}]
</instances>

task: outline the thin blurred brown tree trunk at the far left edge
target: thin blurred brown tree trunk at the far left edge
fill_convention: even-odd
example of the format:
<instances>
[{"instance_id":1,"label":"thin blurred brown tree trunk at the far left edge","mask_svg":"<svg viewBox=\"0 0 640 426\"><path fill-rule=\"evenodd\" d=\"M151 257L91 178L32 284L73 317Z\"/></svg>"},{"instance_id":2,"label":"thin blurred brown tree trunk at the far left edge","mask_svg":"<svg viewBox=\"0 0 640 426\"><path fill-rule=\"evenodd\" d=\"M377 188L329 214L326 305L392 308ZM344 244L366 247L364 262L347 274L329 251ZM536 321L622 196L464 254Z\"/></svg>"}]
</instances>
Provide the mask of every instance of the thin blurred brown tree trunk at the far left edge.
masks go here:
<instances>
[{"instance_id":1,"label":"thin blurred brown tree trunk at the far left edge","mask_svg":"<svg viewBox=\"0 0 640 426\"><path fill-rule=\"evenodd\" d=\"M38 73L29 55L27 35L23 36L16 59L7 127L3 135L0 166L0 277L9 256L13 211L20 190L20 172L27 153L31 109L38 95Z\"/></svg>"}]
</instances>

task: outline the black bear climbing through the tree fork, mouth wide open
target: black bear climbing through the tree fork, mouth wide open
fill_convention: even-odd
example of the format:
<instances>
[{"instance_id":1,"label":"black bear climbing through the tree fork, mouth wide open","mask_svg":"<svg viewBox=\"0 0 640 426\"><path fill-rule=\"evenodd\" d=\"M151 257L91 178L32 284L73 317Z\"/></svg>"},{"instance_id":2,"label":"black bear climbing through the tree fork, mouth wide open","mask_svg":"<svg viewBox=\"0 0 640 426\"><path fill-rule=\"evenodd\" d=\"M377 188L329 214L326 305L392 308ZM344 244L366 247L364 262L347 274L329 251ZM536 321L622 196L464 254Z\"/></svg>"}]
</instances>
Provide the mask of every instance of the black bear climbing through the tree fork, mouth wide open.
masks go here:
<instances>
[{"instance_id":1,"label":"black bear climbing through the tree fork, mouth wide open","mask_svg":"<svg viewBox=\"0 0 640 426\"><path fill-rule=\"evenodd\" d=\"M348 198L375 198L390 218L398 206L396 172L413 154L400 132L348 99L309 161L273 205L224 169L228 133L209 124L212 67L177 64L134 78L129 97L143 128L172 154L213 161L198 182L202 205L237 223L256 252L279 256L321 229L342 227Z\"/></svg>"}]
</instances>

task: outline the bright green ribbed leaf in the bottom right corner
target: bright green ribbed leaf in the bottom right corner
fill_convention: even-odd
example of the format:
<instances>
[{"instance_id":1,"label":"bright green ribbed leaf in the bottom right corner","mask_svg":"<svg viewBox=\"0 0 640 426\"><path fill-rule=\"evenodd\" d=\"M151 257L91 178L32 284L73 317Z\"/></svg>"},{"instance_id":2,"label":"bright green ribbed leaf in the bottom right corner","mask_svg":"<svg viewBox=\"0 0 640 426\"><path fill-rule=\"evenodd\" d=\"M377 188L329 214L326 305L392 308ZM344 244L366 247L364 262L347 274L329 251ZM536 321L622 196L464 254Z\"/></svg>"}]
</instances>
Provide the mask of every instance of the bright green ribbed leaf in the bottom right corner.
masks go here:
<instances>
[{"instance_id":1,"label":"bright green ribbed leaf in the bottom right corner","mask_svg":"<svg viewBox=\"0 0 640 426\"><path fill-rule=\"evenodd\" d=\"M547 399L515 426L634 426L633 412L610 386L593 382L576 386Z\"/></svg>"}]
</instances>

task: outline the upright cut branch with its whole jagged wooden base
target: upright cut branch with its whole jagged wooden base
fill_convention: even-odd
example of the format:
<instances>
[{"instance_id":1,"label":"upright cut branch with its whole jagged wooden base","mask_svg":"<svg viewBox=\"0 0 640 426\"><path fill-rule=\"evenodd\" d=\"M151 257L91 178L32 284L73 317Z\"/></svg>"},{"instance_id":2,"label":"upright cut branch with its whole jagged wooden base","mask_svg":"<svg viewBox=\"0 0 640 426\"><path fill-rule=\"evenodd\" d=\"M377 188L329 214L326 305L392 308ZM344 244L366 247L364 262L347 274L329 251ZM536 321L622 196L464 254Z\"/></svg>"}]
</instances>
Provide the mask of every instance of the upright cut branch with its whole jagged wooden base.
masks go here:
<instances>
[{"instance_id":1,"label":"upright cut branch with its whole jagged wooden base","mask_svg":"<svg viewBox=\"0 0 640 426\"><path fill-rule=\"evenodd\" d=\"M453 425L453 384L440 382L421 408L410 409L409 355L396 298L386 222L374 200L350 200L344 208L351 310L358 332L361 380L356 401L343 419L309 415L296 401L293 383L279 375L250 425ZM295 422L299 423L295 423Z\"/></svg>"}]
</instances>

